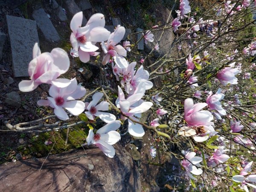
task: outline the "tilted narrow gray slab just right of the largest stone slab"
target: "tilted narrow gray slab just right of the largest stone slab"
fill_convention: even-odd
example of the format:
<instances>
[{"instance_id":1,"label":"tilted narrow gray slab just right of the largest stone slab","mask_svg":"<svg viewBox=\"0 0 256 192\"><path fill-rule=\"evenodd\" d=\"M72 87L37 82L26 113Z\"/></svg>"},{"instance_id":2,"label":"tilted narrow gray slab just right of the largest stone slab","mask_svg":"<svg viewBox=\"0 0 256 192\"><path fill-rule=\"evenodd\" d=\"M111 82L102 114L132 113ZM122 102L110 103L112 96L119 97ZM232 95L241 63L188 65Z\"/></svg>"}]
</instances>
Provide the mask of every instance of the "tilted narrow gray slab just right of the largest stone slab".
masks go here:
<instances>
[{"instance_id":1,"label":"tilted narrow gray slab just right of the largest stone slab","mask_svg":"<svg viewBox=\"0 0 256 192\"><path fill-rule=\"evenodd\" d=\"M48 41L59 41L61 39L44 9L34 11L32 17L36 20L38 27Z\"/></svg>"}]
</instances>

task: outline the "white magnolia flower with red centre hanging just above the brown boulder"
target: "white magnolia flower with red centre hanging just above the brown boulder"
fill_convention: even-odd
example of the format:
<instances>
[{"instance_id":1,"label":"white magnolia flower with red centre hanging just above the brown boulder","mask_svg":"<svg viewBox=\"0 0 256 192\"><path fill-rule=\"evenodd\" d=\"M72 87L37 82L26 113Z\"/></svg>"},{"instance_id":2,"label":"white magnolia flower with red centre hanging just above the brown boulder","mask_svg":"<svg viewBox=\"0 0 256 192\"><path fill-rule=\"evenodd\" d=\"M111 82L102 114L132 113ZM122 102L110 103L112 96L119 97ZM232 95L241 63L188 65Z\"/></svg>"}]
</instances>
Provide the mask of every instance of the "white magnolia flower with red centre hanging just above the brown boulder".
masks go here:
<instances>
[{"instance_id":1,"label":"white magnolia flower with red centre hanging just above the brown boulder","mask_svg":"<svg viewBox=\"0 0 256 192\"><path fill-rule=\"evenodd\" d=\"M121 139L120 134L116 131L120 125L121 122L115 120L100 128L96 131L96 134L90 129L86 138L87 145L94 144L99 147L106 156L113 158L116 151L112 145Z\"/></svg>"}]
</instances>

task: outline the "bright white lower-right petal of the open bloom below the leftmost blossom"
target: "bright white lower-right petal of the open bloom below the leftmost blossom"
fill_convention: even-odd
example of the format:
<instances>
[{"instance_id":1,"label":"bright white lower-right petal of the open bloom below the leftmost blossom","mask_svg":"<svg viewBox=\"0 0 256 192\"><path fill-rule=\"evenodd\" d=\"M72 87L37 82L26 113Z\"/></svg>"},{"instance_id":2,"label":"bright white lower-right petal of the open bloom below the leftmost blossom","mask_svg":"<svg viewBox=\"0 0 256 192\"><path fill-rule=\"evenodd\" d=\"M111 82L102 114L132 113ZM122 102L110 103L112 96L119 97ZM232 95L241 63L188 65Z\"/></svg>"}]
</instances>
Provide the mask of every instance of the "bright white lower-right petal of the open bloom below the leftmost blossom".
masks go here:
<instances>
[{"instance_id":1,"label":"bright white lower-right petal of the open bloom below the leftmost blossom","mask_svg":"<svg viewBox=\"0 0 256 192\"><path fill-rule=\"evenodd\" d=\"M68 112L77 116L83 113L85 105L84 105L84 102L82 101L73 100L73 101L65 102L62 106L65 109L67 109Z\"/></svg>"}]
</instances>

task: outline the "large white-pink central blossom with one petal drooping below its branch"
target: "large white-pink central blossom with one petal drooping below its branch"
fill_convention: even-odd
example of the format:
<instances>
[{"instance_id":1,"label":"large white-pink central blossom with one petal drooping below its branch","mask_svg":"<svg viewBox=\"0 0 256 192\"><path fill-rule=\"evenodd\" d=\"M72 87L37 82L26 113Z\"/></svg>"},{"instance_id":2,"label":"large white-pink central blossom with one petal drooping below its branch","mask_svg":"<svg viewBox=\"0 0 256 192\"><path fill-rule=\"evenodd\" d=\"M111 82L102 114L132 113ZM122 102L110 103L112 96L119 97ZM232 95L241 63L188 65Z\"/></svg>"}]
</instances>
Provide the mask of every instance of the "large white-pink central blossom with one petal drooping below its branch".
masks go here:
<instances>
[{"instance_id":1,"label":"large white-pink central blossom with one petal drooping below its branch","mask_svg":"<svg viewBox=\"0 0 256 192\"><path fill-rule=\"evenodd\" d=\"M135 121L139 121L135 116L141 117L141 113L148 111L153 105L151 102L144 102L141 98L145 93L144 82L140 82L138 90L127 99L122 89L118 86L118 99L116 99L116 107L120 108L122 114L129 116ZM125 116L121 116L121 119L127 119ZM142 137L145 134L142 125L132 122L128 119L128 132L135 137Z\"/></svg>"}]
</instances>

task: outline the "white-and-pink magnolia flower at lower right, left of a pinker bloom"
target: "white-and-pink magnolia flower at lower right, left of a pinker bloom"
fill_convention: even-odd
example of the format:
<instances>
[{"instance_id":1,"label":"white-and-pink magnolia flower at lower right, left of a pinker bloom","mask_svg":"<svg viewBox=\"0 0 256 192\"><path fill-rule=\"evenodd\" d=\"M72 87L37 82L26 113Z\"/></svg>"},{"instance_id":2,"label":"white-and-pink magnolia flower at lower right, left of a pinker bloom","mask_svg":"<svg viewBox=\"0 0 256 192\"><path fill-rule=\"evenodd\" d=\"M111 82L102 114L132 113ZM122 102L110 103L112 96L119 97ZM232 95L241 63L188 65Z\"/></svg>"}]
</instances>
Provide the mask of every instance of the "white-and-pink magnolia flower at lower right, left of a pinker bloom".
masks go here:
<instances>
[{"instance_id":1,"label":"white-and-pink magnolia flower at lower right, left of a pinker bloom","mask_svg":"<svg viewBox=\"0 0 256 192\"><path fill-rule=\"evenodd\" d=\"M203 170L200 167L200 162L203 160L202 157L195 157L195 152L188 152L184 158L184 160L181 161L181 165L186 170L186 173L189 175L191 179L195 179L195 177L192 175L201 175L203 173ZM192 174L191 174L192 173Z\"/></svg>"}]
</instances>

